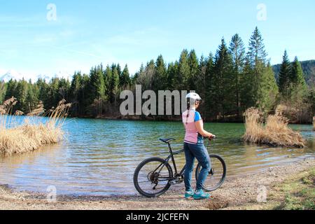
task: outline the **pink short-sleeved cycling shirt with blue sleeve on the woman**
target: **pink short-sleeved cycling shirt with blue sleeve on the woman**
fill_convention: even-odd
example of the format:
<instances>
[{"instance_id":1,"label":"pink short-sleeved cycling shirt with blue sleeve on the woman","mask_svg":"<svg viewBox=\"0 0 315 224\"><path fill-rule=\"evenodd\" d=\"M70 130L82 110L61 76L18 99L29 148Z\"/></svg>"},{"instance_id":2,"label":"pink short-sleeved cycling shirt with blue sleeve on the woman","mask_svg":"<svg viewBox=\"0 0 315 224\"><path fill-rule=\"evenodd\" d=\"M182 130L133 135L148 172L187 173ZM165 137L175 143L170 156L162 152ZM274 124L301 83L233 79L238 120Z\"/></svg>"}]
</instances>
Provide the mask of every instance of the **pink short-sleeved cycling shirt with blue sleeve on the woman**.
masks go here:
<instances>
[{"instance_id":1,"label":"pink short-sleeved cycling shirt with blue sleeve on the woman","mask_svg":"<svg viewBox=\"0 0 315 224\"><path fill-rule=\"evenodd\" d=\"M202 135L198 133L196 122L202 120L200 113L190 109L183 113L183 124L186 129L185 141L188 144L204 144Z\"/></svg>"}]
</instances>

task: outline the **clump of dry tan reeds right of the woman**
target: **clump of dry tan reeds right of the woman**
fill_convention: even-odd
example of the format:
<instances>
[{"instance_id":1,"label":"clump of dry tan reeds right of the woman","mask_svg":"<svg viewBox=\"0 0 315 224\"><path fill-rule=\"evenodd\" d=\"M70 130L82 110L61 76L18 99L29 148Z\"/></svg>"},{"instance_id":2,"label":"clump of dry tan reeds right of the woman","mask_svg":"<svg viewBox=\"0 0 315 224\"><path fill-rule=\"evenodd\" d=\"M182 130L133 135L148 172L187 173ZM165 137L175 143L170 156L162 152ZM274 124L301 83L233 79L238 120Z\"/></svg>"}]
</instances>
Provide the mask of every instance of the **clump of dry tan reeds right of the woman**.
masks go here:
<instances>
[{"instance_id":1,"label":"clump of dry tan reeds right of the woman","mask_svg":"<svg viewBox=\"0 0 315 224\"><path fill-rule=\"evenodd\" d=\"M288 127L288 119L279 110L265 119L258 109L248 109L245 113L245 127L243 139L248 143L295 148L305 146L302 135Z\"/></svg>"}]
</instances>

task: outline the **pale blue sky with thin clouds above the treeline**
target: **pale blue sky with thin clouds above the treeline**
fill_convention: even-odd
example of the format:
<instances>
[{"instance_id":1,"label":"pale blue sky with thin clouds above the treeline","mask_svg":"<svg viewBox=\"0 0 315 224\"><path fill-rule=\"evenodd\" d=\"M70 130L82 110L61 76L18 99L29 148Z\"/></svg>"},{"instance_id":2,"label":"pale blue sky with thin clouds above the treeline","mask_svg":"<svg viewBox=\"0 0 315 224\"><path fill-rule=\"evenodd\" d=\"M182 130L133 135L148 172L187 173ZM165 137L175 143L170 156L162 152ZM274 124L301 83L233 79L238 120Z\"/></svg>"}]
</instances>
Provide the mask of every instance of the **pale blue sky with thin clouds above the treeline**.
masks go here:
<instances>
[{"instance_id":1,"label":"pale blue sky with thin clouds above the treeline","mask_svg":"<svg viewBox=\"0 0 315 224\"><path fill-rule=\"evenodd\" d=\"M34 74L89 71L99 63L128 64L162 54L167 62L183 48L209 55L224 36L238 33L248 44L255 26L265 39L272 64L283 51L290 59L315 59L315 1L186 0L0 0L0 76L8 70ZM48 3L57 20L47 20ZM267 20L258 20L259 3Z\"/></svg>"}]
</instances>

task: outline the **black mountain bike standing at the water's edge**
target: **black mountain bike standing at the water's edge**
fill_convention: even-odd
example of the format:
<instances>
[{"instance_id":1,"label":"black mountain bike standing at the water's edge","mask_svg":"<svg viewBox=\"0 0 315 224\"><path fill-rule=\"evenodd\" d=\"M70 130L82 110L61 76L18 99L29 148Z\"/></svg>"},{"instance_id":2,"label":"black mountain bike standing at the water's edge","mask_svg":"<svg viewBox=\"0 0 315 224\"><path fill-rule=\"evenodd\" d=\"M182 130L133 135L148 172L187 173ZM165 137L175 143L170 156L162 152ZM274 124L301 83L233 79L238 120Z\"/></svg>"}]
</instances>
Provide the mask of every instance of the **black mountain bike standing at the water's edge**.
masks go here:
<instances>
[{"instance_id":1,"label":"black mountain bike standing at the water's edge","mask_svg":"<svg viewBox=\"0 0 315 224\"><path fill-rule=\"evenodd\" d=\"M181 184L184 181L186 166L178 172L174 155L184 153L184 150L173 152L171 142L175 139L160 139L169 146L169 156L162 158L148 158L140 163L134 172L134 187L144 197L160 197L165 194L171 186ZM172 161L174 171L169 161ZM212 192L221 188L226 177L226 165L220 155L210 155L211 171L205 181L203 190ZM197 165L195 178L198 179L202 166Z\"/></svg>"}]
</instances>

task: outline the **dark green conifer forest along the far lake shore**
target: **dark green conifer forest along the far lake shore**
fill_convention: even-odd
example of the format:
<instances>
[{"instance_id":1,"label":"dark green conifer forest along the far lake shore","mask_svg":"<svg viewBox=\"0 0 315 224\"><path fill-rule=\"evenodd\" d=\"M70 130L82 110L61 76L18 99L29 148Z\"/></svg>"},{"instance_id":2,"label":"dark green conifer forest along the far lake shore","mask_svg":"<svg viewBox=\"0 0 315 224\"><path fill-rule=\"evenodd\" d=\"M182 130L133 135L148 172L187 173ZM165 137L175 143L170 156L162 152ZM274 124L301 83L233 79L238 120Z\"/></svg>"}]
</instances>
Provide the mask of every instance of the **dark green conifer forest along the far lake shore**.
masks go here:
<instances>
[{"instance_id":1,"label":"dark green conifer forest along the far lake shore","mask_svg":"<svg viewBox=\"0 0 315 224\"><path fill-rule=\"evenodd\" d=\"M230 43L222 38L216 53L198 58L195 50L183 50L176 62L165 62L162 55L151 60L134 75L120 64L92 67L89 74L76 71L72 80L52 78L0 82L0 104L16 97L15 110L28 113L43 102L45 109L66 99L73 106L70 116L81 118L119 118L122 90L195 90L204 103L200 112L207 121L242 121L250 107L272 113L282 104L288 117L297 123L309 123L315 114L315 82L307 84L302 66L284 52L276 77L269 62L262 35L256 27L248 48L238 34ZM149 116L172 120L174 116ZM141 118L146 118L142 116Z\"/></svg>"}]
</instances>

